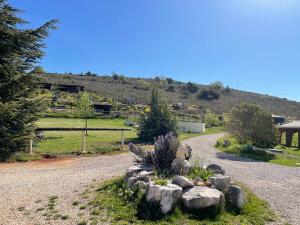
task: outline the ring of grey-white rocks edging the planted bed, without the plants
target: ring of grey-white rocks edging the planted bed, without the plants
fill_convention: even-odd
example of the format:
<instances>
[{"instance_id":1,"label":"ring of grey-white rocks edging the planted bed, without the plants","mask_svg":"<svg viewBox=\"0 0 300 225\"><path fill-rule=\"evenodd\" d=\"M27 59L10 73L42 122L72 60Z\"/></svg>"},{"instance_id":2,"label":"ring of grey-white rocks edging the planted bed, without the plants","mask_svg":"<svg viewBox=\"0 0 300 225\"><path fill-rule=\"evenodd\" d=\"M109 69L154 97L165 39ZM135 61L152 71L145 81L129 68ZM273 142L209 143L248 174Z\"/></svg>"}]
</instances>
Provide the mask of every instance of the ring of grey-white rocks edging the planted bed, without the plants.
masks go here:
<instances>
[{"instance_id":1,"label":"ring of grey-white rocks edging the planted bed, without the plants","mask_svg":"<svg viewBox=\"0 0 300 225\"><path fill-rule=\"evenodd\" d=\"M225 170L216 164L207 166L214 175L207 181L200 177L191 180L185 177L191 168L186 160L175 159L172 170L175 175L166 185L157 185L152 180L153 168L150 165L138 164L129 168L125 175L128 187L138 187L145 192L147 202L160 205L163 214L168 214L177 204L187 210L204 210L226 206L232 210L240 210L245 202L245 193L233 185ZM184 174L184 175L183 175Z\"/></svg>"}]
</instances>

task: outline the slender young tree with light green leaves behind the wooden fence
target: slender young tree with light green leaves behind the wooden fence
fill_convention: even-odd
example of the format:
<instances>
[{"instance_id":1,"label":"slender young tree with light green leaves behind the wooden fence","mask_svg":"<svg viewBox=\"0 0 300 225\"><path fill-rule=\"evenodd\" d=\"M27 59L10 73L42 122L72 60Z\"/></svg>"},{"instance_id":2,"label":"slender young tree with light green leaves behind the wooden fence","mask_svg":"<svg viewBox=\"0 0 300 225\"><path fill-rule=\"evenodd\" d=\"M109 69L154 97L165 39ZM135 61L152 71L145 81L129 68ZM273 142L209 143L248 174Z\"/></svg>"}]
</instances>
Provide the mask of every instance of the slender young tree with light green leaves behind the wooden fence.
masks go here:
<instances>
[{"instance_id":1,"label":"slender young tree with light green leaves behind the wooden fence","mask_svg":"<svg viewBox=\"0 0 300 225\"><path fill-rule=\"evenodd\" d=\"M81 114L81 116L84 118L85 120L85 128L87 129L88 124L88 118L92 115L93 113L93 105L92 105L92 101L90 98L90 95L87 92L83 92L77 101L77 109L79 111L79 113ZM87 130L85 131L85 135L88 135Z\"/></svg>"}]
</instances>

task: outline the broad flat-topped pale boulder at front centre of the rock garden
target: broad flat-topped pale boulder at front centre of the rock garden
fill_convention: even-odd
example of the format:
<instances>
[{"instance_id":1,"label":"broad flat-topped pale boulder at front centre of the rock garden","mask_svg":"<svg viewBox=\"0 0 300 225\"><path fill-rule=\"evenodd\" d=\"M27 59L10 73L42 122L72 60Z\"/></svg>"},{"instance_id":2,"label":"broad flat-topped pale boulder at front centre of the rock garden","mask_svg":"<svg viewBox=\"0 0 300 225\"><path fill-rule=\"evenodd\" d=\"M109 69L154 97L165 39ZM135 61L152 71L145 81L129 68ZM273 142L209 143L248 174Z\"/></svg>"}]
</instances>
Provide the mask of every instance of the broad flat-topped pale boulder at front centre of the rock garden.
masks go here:
<instances>
[{"instance_id":1,"label":"broad flat-topped pale boulder at front centre of the rock garden","mask_svg":"<svg viewBox=\"0 0 300 225\"><path fill-rule=\"evenodd\" d=\"M187 189L181 199L187 209L201 210L208 207L219 207L223 201L223 193L217 189L195 186Z\"/></svg>"}]
</instances>

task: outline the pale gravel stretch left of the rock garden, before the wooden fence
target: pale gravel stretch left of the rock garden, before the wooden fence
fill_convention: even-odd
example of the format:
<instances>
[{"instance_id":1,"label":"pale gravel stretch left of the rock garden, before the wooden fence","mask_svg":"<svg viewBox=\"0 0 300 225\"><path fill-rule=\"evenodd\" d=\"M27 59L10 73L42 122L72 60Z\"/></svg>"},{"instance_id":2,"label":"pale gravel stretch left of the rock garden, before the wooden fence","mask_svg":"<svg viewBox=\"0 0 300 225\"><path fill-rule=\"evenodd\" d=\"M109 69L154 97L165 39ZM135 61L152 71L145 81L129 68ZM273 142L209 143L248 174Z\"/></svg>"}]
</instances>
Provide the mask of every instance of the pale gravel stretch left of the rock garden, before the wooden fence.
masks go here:
<instances>
[{"instance_id":1,"label":"pale gravel stretch left of the rock garden, before the wooden fence","mask_svg":"<svg viewBox=\"0 0 300 225\"><path fill-rule=\"evenodd\" d=\"M132 159L131 155L122 154L54 160L50 163L0 164L0 224L76 225L80 210L72 203L79 194L93 181L121 175L131 166ZM42 208L47 208L51 196L58 197L54 210L70 218L64 221L46 220Z\"/></svg>"}]
</instances>

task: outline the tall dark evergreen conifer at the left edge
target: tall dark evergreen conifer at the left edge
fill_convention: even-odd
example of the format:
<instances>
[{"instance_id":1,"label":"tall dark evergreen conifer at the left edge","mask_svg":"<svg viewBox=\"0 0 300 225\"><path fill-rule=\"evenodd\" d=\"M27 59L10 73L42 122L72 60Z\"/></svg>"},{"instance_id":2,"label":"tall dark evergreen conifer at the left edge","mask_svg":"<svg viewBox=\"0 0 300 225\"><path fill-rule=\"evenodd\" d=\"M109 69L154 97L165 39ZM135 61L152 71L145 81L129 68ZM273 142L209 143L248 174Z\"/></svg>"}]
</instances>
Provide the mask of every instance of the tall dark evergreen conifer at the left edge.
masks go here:
<instances>
[{"instance_id":1,"label":"tall dark evergreen conifer at the left edge","mask_svg":"<svg viewBox=\"0 0 300 225\"><path fill-rule=\"evenodd\" d=\"M0 159L25 150L40 109L35 92L37 78L32 71L43 56L43 40L51 20L37 29L20 29L27 23L21 11L0 0Z\"/></svg>"}]
</instances>

